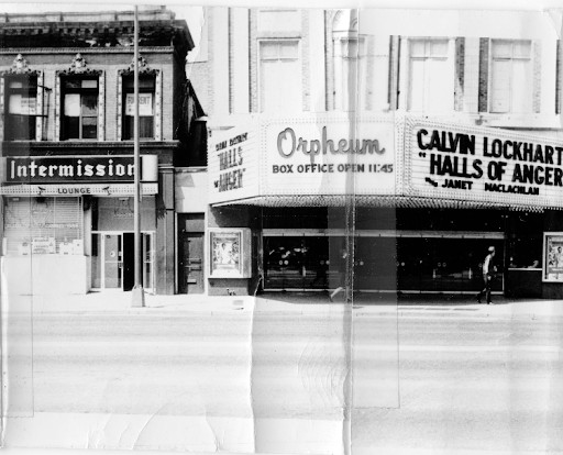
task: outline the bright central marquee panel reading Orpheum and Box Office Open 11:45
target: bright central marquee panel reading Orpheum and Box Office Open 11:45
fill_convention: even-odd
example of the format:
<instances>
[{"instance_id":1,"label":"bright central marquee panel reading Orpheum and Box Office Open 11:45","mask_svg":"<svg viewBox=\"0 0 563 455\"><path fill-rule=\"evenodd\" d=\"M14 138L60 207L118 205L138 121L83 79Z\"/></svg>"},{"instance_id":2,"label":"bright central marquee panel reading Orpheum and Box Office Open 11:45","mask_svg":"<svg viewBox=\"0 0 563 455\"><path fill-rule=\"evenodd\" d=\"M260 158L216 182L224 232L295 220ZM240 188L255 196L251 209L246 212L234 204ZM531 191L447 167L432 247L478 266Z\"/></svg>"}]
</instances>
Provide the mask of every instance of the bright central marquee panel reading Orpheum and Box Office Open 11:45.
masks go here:
<instances>
[{"instance_id":1,"label":"bright central marquee panel reading Orpheum and Box Office Open 11:45","mask_svg":"<svg viewBox=\"0 0 563 455\"><path fill-rule=\"evenodd\" d=\"M263 193L394 195L395 123L391 118L314 114L273 119L262 130Z\"/></svg>"}]
</instances>

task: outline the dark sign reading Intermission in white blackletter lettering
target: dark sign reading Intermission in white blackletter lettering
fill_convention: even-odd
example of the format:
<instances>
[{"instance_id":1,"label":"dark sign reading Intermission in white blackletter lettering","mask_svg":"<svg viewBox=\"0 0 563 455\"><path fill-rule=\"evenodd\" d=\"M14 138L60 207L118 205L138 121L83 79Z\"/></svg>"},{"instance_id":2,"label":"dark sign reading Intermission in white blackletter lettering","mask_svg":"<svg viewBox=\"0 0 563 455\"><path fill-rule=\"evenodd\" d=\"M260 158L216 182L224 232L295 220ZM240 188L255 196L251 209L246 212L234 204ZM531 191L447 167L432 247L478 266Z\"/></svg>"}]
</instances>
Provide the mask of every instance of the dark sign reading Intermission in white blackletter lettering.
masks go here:
<instances>
[{"instance_id":1,"label":"dark sign reading Intermission in white blackletter lettering","mask_svg":"<svg viewBox=\"0 0 563 455\"><path fill-rule=\"evenodd\" d=\"M4 158L8 184L133 181L132 156Z\"/></svg>"}]
</instances>

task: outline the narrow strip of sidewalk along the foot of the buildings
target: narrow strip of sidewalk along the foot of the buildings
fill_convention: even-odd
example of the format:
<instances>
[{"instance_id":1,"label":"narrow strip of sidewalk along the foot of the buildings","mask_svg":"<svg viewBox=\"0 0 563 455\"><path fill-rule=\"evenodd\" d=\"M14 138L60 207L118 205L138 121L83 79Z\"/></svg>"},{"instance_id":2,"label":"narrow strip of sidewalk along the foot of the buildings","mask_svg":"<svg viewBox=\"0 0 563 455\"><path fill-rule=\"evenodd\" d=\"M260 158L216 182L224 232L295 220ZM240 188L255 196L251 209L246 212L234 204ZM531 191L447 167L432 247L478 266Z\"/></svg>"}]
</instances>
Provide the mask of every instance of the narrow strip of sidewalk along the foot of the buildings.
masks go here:
<instances>
[{"instance_id":1,"label":"narrow strip of sidewalk along the foot of the buildings","mask_svg":"<svg viewBox=\"0 0 563 455\"><path fill-rule=\"evenodd\" d=\"M494 297L495 304L478 304L468 295L364 293L353 296L353 308L360 313L441 312L479 315L563 317L563 300L509 299ZM46 313L131 313L156 314L196 312L339 312L345 309L343 297L330 302L327 292L266 292L253 296L145 295L145 307L132 307L132 293L122 291L90 292L85 296L2 296L3 312Z\"/></svg>"}]
</instances>

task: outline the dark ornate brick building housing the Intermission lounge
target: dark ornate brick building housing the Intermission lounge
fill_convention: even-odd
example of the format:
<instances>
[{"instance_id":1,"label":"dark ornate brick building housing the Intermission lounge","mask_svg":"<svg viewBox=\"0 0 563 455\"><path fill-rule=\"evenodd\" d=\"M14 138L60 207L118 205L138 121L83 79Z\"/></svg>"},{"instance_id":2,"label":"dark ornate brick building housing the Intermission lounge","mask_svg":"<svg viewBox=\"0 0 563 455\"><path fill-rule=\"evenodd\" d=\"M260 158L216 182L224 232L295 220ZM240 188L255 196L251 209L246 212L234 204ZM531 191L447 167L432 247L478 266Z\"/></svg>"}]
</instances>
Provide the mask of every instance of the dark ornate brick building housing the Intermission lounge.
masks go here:
<instances>
[{"instance_id":1,"label":"dark ornate brick building housing the Intermission lounge","mask_svg":"<svg viewBox=\"0 0 563 455\"><path fill-rule=\"evenodd\" d=\"M9 292L133 286L133 11L0 16L2 262ZM175 291L174 167L197 156L184 20L140 23L143 285ZM21 279L22 276L29 279Z\"/></svg>"}]
</instances>

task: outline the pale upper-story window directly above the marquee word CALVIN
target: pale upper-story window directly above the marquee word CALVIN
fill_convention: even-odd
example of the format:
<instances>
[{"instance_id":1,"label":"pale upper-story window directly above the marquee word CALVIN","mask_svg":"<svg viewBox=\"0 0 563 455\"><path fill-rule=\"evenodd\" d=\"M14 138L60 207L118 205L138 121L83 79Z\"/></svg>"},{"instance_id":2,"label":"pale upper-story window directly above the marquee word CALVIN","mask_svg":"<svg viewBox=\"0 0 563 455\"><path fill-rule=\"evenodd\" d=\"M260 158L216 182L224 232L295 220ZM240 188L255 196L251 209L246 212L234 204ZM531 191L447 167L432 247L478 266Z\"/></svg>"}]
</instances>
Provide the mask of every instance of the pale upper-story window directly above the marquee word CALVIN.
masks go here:
<instances>
[{"instance_id":1,"label":"pale upper-story window directly above the marquee word CALVIN","mask_svg":"<svg viewBox=\"0 0 563 455\"><path fill-rule=\"evenodd\" d=\"M453 110L454 58L448 38L409 40L407 109L418 112Z\"/></svg>"}]
</instances>

